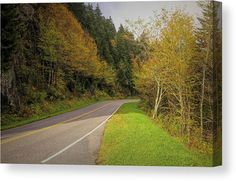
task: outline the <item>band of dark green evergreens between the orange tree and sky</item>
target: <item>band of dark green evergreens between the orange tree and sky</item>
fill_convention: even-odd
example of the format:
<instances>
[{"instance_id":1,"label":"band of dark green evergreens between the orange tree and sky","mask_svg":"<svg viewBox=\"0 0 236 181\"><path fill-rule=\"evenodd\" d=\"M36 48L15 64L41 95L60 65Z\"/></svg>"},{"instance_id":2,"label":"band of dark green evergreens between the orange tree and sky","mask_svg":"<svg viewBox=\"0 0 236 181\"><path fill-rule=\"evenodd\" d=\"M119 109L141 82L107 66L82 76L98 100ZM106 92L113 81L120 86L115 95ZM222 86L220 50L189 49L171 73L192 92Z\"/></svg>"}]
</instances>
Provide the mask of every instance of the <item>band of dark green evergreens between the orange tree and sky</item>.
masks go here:
<instances>
[{"instance_id":1,"label":"band of dark green evergreens between the orange tree and sky","mask_svg":"<svg viewBox=\"0 0 236 181\"><path fill-rule=\"evenodd\" d=\"M133 94L135 91L131 56L136 54L134 43L131 43L134 41L133 35L123 26L116 32L111 17L105 18L98 4L93 6L92 4L72 3L68 4L68 7L81 22L85 31L94 38L99 57L115 73L116 90L114 92L120 92L123 95Z\"/></svg>"}]
</instances>

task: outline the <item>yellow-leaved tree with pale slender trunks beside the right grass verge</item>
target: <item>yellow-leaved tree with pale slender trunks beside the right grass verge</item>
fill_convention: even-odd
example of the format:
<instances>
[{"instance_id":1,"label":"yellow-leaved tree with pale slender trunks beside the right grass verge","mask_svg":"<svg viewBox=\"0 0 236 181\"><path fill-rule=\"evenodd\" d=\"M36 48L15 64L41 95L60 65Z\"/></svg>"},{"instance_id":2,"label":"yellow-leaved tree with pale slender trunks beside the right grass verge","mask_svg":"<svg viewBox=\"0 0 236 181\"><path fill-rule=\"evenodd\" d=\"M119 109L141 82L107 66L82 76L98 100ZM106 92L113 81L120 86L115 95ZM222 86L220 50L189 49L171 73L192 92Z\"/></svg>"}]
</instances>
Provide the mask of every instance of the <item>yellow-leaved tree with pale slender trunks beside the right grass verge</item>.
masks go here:
<instances>
[{"instance_id":1,"label":"yellow-leaved tree with pale slender trunks beside the right grass verge","mask_svg":"<svg viewBox=\"0 0 236 181\"><path fill-rule=\"evenodd\" d=\"M136 87L150 102L153 118L158 110L179 117L180 132L187 133L190 139L192 86L195 84L190 69L196 42L193 19L182 11L163 11L153 20L159 34L155 38L149 36L151 52L148 60L141 64Z\"/></svg>"}]
</instances>

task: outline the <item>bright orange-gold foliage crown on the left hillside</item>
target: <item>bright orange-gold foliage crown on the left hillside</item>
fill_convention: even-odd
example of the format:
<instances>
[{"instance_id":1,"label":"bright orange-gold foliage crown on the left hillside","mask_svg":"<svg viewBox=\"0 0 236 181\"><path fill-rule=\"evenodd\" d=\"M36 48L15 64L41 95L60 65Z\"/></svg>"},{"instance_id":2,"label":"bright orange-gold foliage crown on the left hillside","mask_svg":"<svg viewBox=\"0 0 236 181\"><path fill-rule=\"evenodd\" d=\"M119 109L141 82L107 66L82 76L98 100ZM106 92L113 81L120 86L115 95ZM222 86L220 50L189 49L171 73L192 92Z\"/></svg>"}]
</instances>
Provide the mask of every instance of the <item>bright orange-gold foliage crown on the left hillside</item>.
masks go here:
<instances>
[{"instance_id":1,"label":"bright orange-gold foliage crown on the left hillside","mask_svg":"<svg viewBox=\"0 0 236 181\"><path fill-rule=\"evenodd\" d=\"M69 63L75 71L101 79L114 77L114 73L107 64L98 58L93 38L83 31L78 20L65 5L50 4L41 11L46 18L54 19L61 39L64 40L64 61Z\"/></svg>"}]
</instances>

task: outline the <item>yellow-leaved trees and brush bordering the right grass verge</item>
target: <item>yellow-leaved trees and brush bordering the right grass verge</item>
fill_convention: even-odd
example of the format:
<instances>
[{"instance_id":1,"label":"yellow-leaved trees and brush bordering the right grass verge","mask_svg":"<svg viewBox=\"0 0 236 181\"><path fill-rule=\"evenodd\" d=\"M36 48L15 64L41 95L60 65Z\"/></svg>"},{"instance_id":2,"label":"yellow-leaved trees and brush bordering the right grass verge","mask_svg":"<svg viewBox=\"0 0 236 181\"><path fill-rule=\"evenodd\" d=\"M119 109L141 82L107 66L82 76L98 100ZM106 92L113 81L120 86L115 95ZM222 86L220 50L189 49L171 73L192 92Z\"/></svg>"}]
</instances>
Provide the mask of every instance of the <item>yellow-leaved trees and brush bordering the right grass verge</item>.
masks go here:
<instances>
[{"instance_id":1,"label":"yellow-leaved trees and brush bordering the right grass verge","mask_svg":"<svg viewBox=\"0 0 236 181\"><path fill-rule=\"evenodd\" d=\"M215 155L222 127L220 7L197 3L202 10L197 19L182 10L163 10L149 23L129 22L147 50L134 61L134 80L142 108L165 131Z\"/></svg>"}]
</instances>

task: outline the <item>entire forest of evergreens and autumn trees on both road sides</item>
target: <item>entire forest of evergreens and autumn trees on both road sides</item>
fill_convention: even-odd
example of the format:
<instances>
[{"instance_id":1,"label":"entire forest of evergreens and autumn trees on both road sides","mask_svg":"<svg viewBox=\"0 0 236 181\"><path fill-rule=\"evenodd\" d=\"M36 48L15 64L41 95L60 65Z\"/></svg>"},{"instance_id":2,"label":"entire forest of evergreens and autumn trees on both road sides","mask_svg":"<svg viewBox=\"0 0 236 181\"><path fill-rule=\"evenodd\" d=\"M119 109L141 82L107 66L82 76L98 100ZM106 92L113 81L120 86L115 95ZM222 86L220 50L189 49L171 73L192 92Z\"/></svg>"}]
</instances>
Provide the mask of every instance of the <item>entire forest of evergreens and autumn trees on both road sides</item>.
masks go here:
<instances>
[{"instance_id":1,"label":"entire forest of evergreens and autumn trees on both road sides","mask_svg":"<svg viewBox=\"0 0 236 181\"><path fill-rule=\"evenodd\" d=\"M139 97L189 147L220 148L220 7L198 6L197 22L185 11L162 10L116 30L98 5L2 5L1 123L58 101Z\"/></svg>"}]
</instances>

